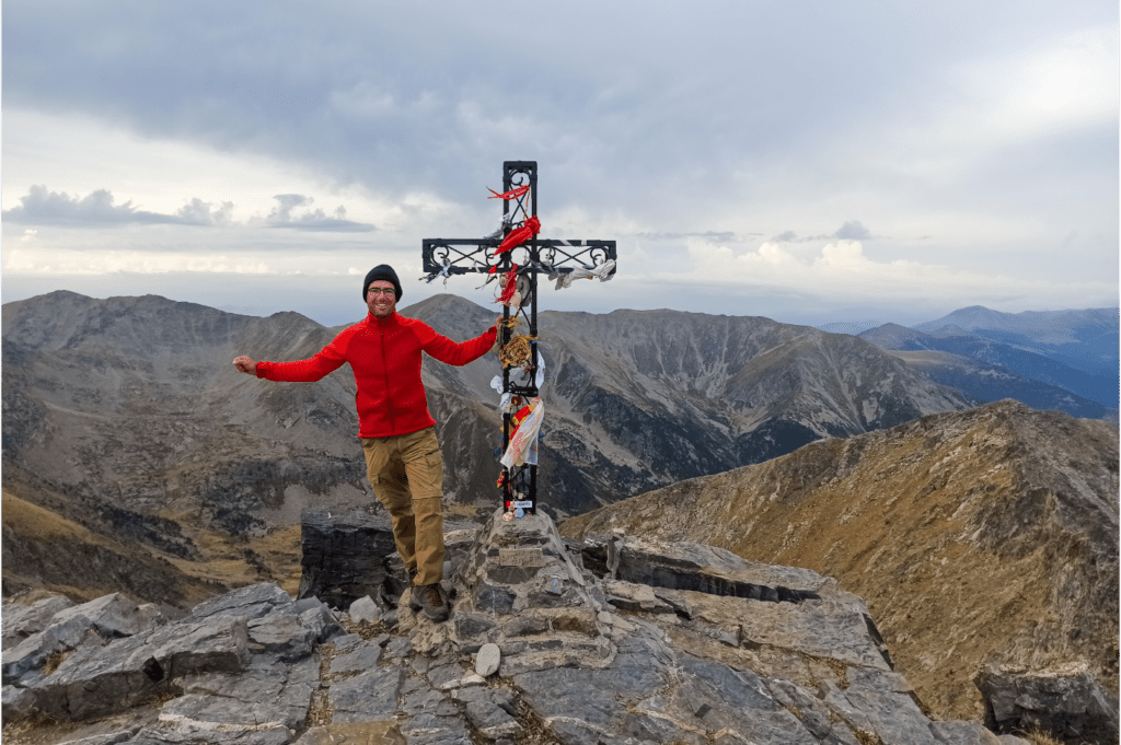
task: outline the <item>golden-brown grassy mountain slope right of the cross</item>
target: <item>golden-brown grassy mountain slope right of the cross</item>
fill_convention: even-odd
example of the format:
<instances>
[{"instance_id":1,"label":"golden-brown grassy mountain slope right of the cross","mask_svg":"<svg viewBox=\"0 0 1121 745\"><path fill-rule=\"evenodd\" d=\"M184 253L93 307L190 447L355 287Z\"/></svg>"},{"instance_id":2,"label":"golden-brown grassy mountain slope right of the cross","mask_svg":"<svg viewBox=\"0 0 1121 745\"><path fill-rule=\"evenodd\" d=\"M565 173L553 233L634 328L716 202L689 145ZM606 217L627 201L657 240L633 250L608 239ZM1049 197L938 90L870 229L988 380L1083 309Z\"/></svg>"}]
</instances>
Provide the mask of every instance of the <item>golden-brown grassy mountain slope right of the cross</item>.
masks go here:
<instances>
[{"instance_id":1,"label":"golden-brown grassy mountain slope right of the cross","mask_svg":"<svg viewBox=\"0 0 1121 745\"><path fill-rule=\"evenodd\" d=\"M989 665L1077 669L1117 696L1119 465L1115 427L1000 401L682 482L562 532L694 540L835 577L933 711L981 720Z\"/></svg>"}]
</instances>

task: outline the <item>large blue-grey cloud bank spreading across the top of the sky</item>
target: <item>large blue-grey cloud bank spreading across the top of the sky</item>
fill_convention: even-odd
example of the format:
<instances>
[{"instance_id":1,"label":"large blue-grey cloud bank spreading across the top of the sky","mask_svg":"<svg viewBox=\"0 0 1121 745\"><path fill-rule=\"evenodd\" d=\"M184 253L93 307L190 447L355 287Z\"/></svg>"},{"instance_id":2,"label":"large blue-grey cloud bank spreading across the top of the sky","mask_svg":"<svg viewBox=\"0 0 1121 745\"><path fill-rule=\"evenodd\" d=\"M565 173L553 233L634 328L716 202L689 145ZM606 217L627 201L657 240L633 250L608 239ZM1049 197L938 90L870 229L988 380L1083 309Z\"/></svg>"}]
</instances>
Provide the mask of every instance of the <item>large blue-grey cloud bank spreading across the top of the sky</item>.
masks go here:
<instances>
[{"instance_id":1,"label":"large blue-grey cloud bank spreading across the top of the sky","mask_svg":"<svg viewBox=\"0 0 1121 745\"><path fill-rule=\"evenodd\" d=\"M929 13L918 39L884 34L915 25L879 3L818 2L812 25L728 2L281 13L250 0L220 21L175 3L12 6L0 29L8 102L461 203L483 179L494 185L503 160L534 158L543 212L591 203L651 216L734 188L777 152L834 141L851 108L874 117L921 90L941 72L925 45L952 26ZM596 54L510 64L509 45L527 34Z\"/></svg>"}]
</instances>

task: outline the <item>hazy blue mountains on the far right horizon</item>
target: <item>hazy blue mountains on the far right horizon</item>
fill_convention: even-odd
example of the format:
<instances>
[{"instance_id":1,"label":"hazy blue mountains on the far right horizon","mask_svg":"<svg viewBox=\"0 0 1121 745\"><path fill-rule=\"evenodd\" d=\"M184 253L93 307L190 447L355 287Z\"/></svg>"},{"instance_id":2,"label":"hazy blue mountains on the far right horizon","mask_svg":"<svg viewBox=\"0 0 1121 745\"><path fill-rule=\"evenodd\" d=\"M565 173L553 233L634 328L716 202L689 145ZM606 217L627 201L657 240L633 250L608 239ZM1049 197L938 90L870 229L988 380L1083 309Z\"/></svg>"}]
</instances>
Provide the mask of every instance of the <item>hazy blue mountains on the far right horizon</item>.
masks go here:
<instances>
[{"instance_id":1,"label":"hazy blue mountains on the far right horizon","mask_svg":"<svg viewBox=\"0 0 1121 745\"><path fill-rule=\"evenodd\" d=\"M872 342L976 402L1010 398L1073 417L1118 419L1117 309L1000 313L970 306L905 327L828 324Z\"/></svg>"}]
</instances>

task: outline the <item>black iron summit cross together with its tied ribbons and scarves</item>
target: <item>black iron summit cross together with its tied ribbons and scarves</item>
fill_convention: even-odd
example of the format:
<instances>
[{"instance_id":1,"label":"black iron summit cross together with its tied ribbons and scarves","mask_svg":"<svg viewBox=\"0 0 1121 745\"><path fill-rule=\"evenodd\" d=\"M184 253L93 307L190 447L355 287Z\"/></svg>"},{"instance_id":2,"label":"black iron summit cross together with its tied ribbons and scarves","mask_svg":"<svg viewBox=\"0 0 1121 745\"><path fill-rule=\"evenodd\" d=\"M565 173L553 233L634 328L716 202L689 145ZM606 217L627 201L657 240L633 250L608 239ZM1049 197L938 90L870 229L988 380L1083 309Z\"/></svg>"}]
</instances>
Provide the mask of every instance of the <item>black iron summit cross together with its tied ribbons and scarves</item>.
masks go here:
<instances>
[{"instance_id":1,"label":"black iron summit cross together with its tied ribbons and scarves","mask_svg":"<svg viewBox=\"0 0 1121 745\"><path fill-rule=\"evenodd\" d=\"M540 222L535 160L507 160L502 164L502 192L489 190L493 196L488 198L502 201L501 226L481 239L425 239L426 274L420 279L432 282L443 277L447 283L453 274L482 273L488 276L487 285L499 278L502 292L495 302L502 304L502 471L498 484L507 513L534 514L544 372L537 345L537 278L546 274L556 280L557 289L571 286L575 278L606 281L615 273L615 242L537 238ZM516 334L515 327L522 320L528 334ZM531 443L525 441L524 425L535 432Z\"/></svg>"}]
</instances>

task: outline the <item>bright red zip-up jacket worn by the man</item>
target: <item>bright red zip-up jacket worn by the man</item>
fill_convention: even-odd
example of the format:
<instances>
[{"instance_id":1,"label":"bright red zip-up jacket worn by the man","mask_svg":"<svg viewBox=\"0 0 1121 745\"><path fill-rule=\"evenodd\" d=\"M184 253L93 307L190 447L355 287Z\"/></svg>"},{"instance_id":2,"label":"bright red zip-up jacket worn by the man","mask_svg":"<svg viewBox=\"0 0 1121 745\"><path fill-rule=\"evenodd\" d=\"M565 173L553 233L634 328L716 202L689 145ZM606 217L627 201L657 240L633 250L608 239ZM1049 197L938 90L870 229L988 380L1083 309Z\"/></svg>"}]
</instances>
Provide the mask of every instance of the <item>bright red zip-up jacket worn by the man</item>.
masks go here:
<instances>
[{"instance_id":1,"label":"bright red zip-up jacket worn by the man","mask_svg":"<svg viewBox=\"0 0 1121 745\"><path fill-rule=\"evenodd\" d=\"M367 315L342 332L311 360L258 362L257 376L267 380L316 381L349 362L358 393L359 437L408 435L436 422L420 383L420 352L451 365L465 365L487 354L498 332L456 344L424 322L396 313Z\"/></svg>"}]
</instances>

